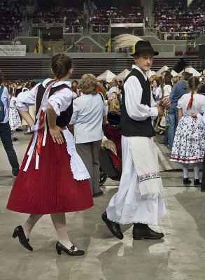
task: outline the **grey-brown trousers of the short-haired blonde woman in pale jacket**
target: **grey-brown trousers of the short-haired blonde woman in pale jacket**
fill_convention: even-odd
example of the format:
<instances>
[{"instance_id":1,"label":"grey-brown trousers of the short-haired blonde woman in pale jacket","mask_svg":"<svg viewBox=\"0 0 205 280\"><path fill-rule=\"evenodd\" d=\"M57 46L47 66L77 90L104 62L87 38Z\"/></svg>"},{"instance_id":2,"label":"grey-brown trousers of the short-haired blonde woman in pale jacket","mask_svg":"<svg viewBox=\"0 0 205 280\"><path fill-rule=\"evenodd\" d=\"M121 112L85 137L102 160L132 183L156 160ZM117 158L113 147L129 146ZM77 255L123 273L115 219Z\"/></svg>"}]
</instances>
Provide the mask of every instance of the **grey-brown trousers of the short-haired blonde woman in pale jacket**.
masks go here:
<instances>
[{"instance_id":1,"label":"grey-brown trousers of the short-haired blonde woman in pale jacket","mask_svg":"<svg viewBox=\"0 0 205 280\"><path fill-rule=\"evenodd\" d=\"M89 143L76 144L76 151L83 160L88 173L90 174L90 186L92 193L99 193L99 151L101 140Z\"/></svg>"}]
</instances>

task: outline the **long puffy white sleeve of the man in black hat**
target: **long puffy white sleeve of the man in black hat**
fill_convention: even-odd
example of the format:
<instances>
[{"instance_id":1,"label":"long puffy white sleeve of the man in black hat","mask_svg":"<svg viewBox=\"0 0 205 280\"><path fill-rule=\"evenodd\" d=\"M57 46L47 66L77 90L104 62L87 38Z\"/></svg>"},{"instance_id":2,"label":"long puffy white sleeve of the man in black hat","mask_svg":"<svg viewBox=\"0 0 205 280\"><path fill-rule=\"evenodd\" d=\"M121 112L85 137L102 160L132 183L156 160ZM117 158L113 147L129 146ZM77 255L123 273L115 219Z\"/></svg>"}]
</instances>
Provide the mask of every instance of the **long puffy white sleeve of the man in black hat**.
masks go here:
<instances>
[{"instance_id":1,"label":"long puffy white sleeve of the man in black hat","mask_svg":"<svg viewBox=\"0 0 205 280\"><path fill-rule=\"evenodd\" d=\"M157 117L157 108L150 108L148 105L141 104L142 87L136 76L130 76L124 85L125 88L125 106L130 118L134 120L146 120L149 117ZM155 106L151 99L152 106Z\"/></svg>"}]
</instances>

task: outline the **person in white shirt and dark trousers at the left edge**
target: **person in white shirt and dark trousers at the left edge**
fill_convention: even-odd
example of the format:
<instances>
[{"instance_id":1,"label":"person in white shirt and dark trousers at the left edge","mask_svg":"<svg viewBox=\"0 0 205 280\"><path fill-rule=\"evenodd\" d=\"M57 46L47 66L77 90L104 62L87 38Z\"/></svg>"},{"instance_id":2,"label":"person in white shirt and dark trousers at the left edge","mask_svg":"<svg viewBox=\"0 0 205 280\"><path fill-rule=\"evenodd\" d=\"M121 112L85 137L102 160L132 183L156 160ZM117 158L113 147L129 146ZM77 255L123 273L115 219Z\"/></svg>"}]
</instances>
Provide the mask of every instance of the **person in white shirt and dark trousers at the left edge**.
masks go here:
<instances>
[{"instance_id":1,"label":"person in white shirt and dark trousers at the left edge","mask_svg":"<svg viewBox=\"0 0 205 280\"><path fill-rule=\"evenodd\" d=\"M3 90L1 94L1 101L3 102L4 112L5 112L4 119L0 123L0 138L3 144L3 148L5 149L6 154L8 156L10 165L12 167L12 174L14 177L16 177L19 172L19 163L17 161L17 155L13 148L11 130L9 125L8 109L9 109L10 99L8 96L7 88L3 87L2 85L3 81L4 81L3 74L0 72L0 85L1 85L1 90Z\"/></svg>"}]
</instances>

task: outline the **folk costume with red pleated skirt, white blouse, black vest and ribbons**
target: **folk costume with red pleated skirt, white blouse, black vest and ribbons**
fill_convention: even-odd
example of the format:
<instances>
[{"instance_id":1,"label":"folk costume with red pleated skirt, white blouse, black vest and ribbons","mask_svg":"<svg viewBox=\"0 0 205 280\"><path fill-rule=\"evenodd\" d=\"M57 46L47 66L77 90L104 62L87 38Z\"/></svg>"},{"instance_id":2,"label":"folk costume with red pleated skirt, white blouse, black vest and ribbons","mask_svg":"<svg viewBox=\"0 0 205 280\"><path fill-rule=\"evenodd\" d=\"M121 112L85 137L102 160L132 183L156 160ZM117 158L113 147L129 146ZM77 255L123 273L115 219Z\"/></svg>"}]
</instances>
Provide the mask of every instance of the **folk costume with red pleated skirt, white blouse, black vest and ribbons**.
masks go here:
<instances>
[{"instance_id":1,"label":"folk costume with red pleated skirt, white blouse, black vest and ribbons","mask_svg":"<svg viewBox=\"0 0 205 280\"><path fill-rule=\"evenodd\" d=\"M50 79L17 97L17 108L36 107L36 125L20 172L11 190L7 208L27 214L81 211L93 206L90 175L76 153L73 135L66 129L72 116L73 92L67 82ZM54 143L46 111L51 104L62 128L64 143Z\"/></svg>"}]
</instances>

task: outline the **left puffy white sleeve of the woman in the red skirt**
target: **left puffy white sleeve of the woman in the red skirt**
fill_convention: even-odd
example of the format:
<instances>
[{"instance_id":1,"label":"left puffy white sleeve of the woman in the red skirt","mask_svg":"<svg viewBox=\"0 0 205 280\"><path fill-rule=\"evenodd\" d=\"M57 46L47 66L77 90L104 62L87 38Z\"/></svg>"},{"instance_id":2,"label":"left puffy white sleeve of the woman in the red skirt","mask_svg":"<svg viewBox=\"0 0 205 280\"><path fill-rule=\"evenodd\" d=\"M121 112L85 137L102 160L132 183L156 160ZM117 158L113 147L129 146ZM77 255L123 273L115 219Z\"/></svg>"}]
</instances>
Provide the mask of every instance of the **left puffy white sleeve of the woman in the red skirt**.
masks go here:
<instances>
[{"instance_id":1,"label":"left puffy white sleeve of the woman in the red skirt","mask_svg":"<svg viewBox=\"0 0 205 280\"><path fill-rule=\"evenodd\" d=\"M21 111L28 111L28 106L35 104L36 89L38 85L40 85L40 83L35 85L35 87L33 87L31 90L20 92L17 97L13 98L16 109Z\"/></svg>"}]
</instances>

